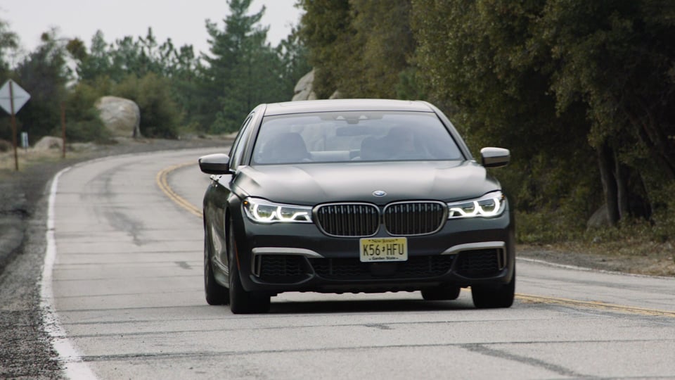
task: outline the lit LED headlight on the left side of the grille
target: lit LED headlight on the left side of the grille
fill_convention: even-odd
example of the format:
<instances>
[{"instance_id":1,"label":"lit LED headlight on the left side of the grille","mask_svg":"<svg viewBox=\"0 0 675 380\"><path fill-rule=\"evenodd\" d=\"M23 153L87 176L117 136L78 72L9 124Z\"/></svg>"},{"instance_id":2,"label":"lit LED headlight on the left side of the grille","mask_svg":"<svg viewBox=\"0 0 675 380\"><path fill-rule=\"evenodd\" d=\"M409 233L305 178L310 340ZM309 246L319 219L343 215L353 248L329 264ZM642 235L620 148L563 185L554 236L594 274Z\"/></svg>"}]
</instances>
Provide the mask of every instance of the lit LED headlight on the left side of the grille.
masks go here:
<instances>
[{"instance_id":1,"label":"lit LED headlight on the left side of the grille","mask_svg":"<svg viewBox=\"0 0 675 380\"><path fill-rule=\"evenodd\" d=\"M258 223L311 223L311 207L282 205L260 198L246 198L244 210L250 220Z\"/></svg>"}]
</instances>

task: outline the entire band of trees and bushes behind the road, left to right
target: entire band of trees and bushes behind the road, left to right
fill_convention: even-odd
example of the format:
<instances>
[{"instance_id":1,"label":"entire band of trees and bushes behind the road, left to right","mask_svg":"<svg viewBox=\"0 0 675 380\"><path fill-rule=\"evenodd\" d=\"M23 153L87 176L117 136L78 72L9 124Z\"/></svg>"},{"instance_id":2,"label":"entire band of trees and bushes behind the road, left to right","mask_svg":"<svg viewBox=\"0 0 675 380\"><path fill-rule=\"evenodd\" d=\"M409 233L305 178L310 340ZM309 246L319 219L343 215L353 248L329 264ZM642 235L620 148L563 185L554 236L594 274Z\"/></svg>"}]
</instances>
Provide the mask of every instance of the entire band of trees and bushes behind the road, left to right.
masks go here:
<instances>
[{"instance_id":1,"label":"entire band of trees and bushes behind the road, left to right","mask_svg":"<svg viewBox=\"0 0 675 380\"><path fill-rule=\"evenodd\" d=\"M90 44L49 30L11 67L18 37L0 20L0 81L32 94L20 131L53 132L64 101L69 139L105 141L94 102L117 95L139 104L146 137L233 132L314 68L319 98L428 100L475 153L509 148L495 174L521 243L675 255L673 1L298 0L300 25L278 46L264 8L228 3L222 23L205 20L201 54L150 29Z\"/></svg>"}]
</instances>

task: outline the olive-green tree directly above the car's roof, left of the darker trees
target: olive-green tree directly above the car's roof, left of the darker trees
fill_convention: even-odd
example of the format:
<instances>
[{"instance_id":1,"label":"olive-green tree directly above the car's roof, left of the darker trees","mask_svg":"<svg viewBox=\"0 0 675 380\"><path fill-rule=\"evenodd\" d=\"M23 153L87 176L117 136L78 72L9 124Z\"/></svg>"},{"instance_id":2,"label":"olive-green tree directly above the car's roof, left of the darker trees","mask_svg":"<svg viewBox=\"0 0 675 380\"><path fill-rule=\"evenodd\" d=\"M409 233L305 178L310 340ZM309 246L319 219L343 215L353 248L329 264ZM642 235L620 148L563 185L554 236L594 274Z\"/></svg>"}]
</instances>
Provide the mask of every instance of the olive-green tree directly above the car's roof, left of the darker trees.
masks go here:
<instances>
[{"instance_id":1,"label":"olive-green tree directly above the car's roof, left of the darker trees","mask_svg":"<svg viewBox=\"0 0 675 380\"><path fill-rule=\"evenodd\" d=\"M300 35L310 49L314 91L327 98L396 98L415 51L409 0L300 1ZM415 96L418 91L400 91Z\"/></svg>"}]
</instances>

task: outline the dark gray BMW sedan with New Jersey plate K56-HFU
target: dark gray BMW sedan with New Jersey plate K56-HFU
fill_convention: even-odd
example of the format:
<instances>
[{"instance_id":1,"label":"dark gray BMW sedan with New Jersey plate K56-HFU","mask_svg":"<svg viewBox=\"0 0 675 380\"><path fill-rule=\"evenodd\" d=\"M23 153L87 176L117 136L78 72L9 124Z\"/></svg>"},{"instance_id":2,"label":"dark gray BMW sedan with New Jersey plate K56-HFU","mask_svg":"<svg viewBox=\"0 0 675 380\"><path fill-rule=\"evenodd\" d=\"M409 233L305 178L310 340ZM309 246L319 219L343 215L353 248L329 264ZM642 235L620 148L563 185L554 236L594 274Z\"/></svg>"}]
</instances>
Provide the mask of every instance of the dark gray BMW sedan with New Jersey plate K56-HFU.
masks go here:
<instances>
[{"instance_id":1,"label":"dark gray BMW sedan with New Jersey plate K56-HFU","mask_svg":"<svg viewBox=\"0 0 675 380\"><path fill-rule=\"evenodd\" d=\"M515 290L508 199L446 116L423 101L262 104L229 154L199 159L210 305L266 312L285 291L421 291L508 308Z\"/></svg>"}]
</instances>

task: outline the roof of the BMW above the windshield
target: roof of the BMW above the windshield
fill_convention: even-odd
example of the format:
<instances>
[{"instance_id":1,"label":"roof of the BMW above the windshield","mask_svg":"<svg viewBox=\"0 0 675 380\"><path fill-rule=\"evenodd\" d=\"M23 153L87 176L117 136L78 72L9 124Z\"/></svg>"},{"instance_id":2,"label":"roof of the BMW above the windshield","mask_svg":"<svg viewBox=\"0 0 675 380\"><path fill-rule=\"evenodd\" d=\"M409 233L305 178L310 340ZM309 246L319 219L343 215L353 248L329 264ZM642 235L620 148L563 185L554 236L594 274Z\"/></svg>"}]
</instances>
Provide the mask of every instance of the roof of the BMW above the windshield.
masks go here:
<instances>
[{"instance_id":1,"label":"roof of the BMW above the windshield","mask_svg":"<svg viewBox=\"0 0 675 380\"><path fill-rule=\"evenodd\" d=\"M286 101L266 105L265 115L359 110L404 110L433 112L423 101L394 99L328 99L311 101Z\"/></svg>"}]
</instances>

